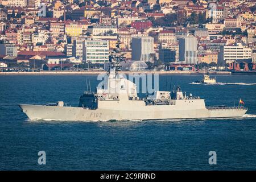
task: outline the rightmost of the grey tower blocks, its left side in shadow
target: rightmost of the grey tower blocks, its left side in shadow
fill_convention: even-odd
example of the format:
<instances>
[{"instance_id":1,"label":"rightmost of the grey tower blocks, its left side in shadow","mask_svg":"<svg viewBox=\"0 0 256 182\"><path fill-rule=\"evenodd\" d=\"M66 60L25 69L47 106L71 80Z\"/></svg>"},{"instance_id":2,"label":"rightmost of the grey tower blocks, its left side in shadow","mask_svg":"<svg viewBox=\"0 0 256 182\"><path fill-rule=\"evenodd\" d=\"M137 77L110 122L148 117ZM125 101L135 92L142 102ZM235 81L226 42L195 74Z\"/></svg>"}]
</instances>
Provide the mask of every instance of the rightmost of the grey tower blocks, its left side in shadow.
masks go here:
<instances>
[{"instance_id":1,"label":"rightmost of the grey tower blocks, its left side in shadow","mask_svg":"<svg viewBox=\"0 0 256 182\"><path fill-rule=\"evenodd\" d=\"M197 63L197 38L185 36L179 39L179 61L184 64Z\"/></svg>"}]
</instances>

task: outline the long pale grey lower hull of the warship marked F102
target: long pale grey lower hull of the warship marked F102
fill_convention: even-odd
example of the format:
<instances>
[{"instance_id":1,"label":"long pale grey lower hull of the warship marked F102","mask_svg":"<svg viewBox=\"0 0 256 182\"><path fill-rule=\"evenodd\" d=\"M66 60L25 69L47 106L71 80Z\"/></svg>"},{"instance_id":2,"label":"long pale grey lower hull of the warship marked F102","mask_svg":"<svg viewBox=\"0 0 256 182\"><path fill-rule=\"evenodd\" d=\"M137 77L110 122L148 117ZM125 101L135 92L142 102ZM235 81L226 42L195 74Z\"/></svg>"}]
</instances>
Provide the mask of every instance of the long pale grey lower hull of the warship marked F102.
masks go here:
<instances>
[{"instance_id":1,"label":"long pale grey lower hull of the warship marked F102","mask_svg":"<svg viewBox=\"0 0 256 182\"><path fill-rule=\"evenodd\" d=\"M139 101L138 101L139 102ZM189 119L189 118L234 118L242 117L247 109L244 107L181 108L175 105L155 105L133 108L98 108L83 107L19 105L31 120L61 121L109 121L109 120L151 120L151 119Z\"/></svg>"}]
</instances>

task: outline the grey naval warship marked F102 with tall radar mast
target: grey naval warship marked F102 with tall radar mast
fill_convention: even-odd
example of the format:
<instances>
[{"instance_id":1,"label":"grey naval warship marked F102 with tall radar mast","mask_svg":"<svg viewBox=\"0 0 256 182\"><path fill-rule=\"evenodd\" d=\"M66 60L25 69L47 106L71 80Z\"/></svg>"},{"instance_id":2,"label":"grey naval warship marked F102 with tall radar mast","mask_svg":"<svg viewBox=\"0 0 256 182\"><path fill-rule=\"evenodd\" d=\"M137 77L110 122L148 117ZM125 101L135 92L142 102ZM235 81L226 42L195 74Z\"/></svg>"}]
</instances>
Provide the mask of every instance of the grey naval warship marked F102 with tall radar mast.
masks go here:
<instances>
[{"instance_id":1,"label":"grey naval warship marked F102 with tall radar mast","mask_svg":"<svg viewBox=\"0 0 256 182\"><path fill-rule=\"evenodd\" d=\"M55 105L28 105L19 107L30 120L61 121L110 121L190 118L242 117L243 106L205 106L205 100L183 93L180 86L172 92L154 91L145 98L138 97L137 86L127 80L121 71L122 56L118 50L110 55L110 68L106 84L95 92L84 92L78 106L65 106L63 101Z\"/></svg>"}]
</instances>

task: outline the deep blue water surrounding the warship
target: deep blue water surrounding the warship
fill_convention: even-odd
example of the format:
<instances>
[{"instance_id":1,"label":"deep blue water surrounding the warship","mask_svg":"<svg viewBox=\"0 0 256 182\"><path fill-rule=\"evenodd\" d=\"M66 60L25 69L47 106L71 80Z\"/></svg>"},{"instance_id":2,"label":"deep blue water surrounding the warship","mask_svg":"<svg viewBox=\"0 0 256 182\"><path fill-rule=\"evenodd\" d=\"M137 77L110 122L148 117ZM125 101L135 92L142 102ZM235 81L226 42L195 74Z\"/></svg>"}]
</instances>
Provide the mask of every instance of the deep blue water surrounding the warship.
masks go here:
<instances>
[{"instance_id":1,"label":"deep blue water surrounding the warship","mask_svg":"<svg viewBox=\"0 0 256 182\"><path fill-rule=\"evenodd\" d=\"M195 85L200 75L160 75L160 89L180 85L207 105L249 107L238 119L163 121L28 121L18 104L64 101L77 105L97 76L0 76L0 170L255 170L255 75L216 76ZM166 84L167 82L167 84ZM167 85L167 86L166 86ZM46 165L38 152L46 151ZM217 164L209 165L209 151Z\"/></svg>"}]
</instances>

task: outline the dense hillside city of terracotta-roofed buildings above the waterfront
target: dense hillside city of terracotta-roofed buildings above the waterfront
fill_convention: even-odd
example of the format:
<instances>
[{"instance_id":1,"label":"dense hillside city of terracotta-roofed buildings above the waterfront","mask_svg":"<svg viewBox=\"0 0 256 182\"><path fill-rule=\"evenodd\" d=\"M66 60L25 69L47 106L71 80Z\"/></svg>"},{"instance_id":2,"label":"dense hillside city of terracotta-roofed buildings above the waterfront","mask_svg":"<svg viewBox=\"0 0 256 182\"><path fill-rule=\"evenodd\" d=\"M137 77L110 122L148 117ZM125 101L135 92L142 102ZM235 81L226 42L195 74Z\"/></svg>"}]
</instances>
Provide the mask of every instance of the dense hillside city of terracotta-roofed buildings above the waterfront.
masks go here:
<instances>
[{"instance_id":1,"label":"dense hillside city of terracotta-roofed buildings above the waterfront","mask_svg":"<svg viewBox=\"0 0 256 182\"><path fill-rule=\"evenodd\" d=\"M256 0L0 0L0 71L255 72Z\"/></svg>"}]
</instances>

